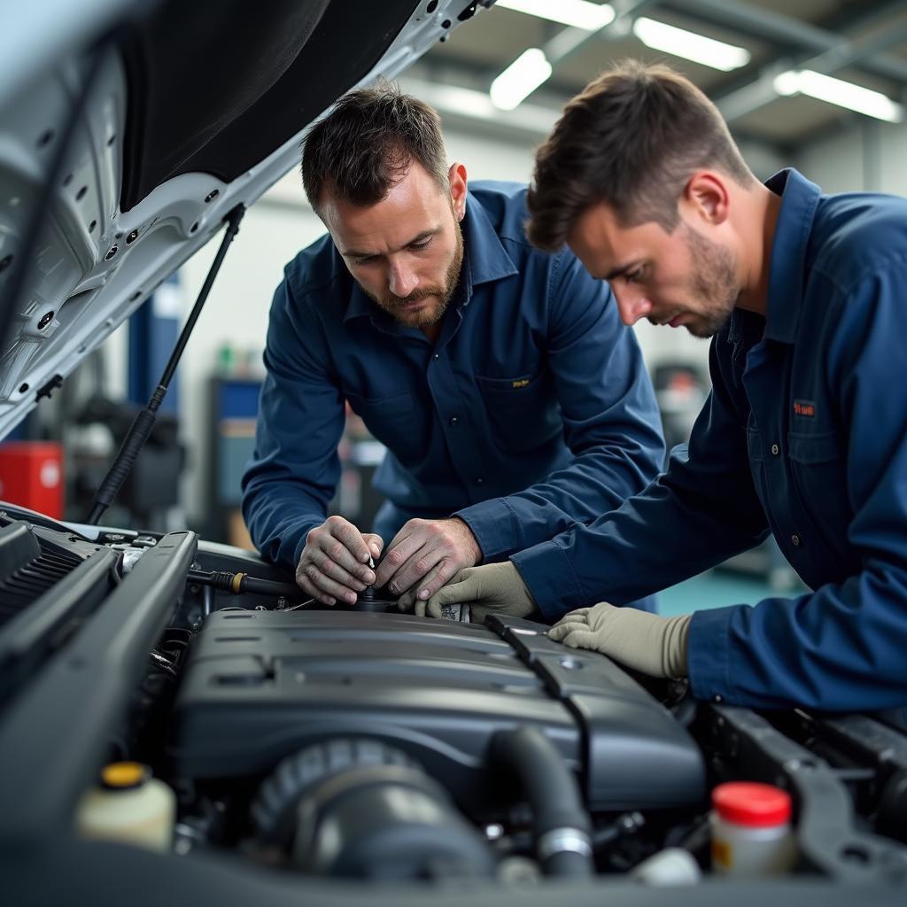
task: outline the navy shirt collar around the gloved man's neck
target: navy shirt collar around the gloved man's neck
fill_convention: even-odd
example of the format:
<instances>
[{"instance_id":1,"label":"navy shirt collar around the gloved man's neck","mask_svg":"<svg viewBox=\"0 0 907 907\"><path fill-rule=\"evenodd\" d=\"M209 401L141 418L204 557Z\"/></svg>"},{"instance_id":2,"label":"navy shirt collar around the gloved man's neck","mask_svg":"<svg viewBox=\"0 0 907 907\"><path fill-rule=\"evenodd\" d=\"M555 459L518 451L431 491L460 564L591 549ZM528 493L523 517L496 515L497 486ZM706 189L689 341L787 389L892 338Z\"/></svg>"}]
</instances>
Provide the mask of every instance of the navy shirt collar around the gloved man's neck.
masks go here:
<instances>
[{"instance_id":1,"label":"navy shirt collar around the gloved man's neck","mask_svg":"<svg viewBox=\"0 0 907 907\"><path fill-rule=\"evenodd\" d=\"M783 170L766 180L781 196L768 272L766 339L792 344L803 303L806 251L822 190L797 171Z\"/></svg>"}]
</instances>

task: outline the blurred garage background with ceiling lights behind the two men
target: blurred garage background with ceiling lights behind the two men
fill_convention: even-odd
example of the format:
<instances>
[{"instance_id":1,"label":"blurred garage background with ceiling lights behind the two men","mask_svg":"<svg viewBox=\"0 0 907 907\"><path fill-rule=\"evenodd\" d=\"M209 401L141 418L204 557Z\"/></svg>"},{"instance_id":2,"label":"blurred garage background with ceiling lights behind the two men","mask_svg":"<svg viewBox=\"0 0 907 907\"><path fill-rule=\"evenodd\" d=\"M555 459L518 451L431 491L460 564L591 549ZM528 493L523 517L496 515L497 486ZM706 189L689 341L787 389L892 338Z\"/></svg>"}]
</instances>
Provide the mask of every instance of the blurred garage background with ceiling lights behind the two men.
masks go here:
<instances>
[{"instance_id":1,"label":"blurred garage background with ceiling lights behind the two men","mask_svg":"<svg viewBox=\"0 0 907 907\"><path fill-rule=\"evenodd\" d=\"M697 37L721 44L700 47ZM512 109L496 106L495 79L532 48L544 54L550 75ZM907 192L900 100L907 86L907 10L897 2L642 0L596 12L590 3L502 0L479 8L398 82L440 112L451 160L463 161L471 179L526 181L532 151L562 105L625 58L666 62L688 75L717 103L759 179L794 166L827 192ZM840 82L788 92L785 73L804 72ZM849 85L858 86L855 100ZM284 264L323 231L297 170L249 210L192 336L191 355L180 365L159 436L140 463L141 478L114 505L112 522L138 519L159 530L189 525L211 540L251 547L239 514L239 478L254 444L271 292ZM131 421L129 404L143 403L153 389L154 370L215 251L211 242L191 258L68 382L58 404L48 401L19 429L17 440L60 444L63 484L51 499L61 515L76 519L85 509ZM683 443L707 394L707 344L645 320L634 330L656 385L668 447ZM64 415L75 409L82 410L77 423ZM380 505L370 479L384 449L351 417L342 450L332 512L369 523ZM32 504L43 500L37 493ZM727 570L666 590L661 607L684 613L802 588L770 540Z\"/></svg>"}]
</instances>

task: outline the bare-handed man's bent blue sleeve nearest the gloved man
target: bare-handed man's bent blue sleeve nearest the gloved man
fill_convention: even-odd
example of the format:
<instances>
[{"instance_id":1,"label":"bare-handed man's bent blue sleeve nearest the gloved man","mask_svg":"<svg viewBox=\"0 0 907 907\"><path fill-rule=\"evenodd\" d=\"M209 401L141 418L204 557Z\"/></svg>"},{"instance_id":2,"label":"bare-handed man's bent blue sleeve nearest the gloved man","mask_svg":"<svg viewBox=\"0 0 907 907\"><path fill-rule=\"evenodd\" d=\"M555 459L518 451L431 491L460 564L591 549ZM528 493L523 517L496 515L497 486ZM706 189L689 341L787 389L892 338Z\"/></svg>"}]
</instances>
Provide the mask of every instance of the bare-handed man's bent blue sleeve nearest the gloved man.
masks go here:
<instances>
[{"instance_id":1,"label":"bare-handed man's bent blue sleeve nearest the gloved man","mask_svg":"<svg viewBox=\"0 0 907 907\"><path fill-rule=\"evenodd\" d=\"M552 269L547 341L564 440L563 468L520 493L464 508L486 561L590 522L641 491L664 463L658 405L636 336L607 283L569 251Z\"/></svg>"}]
</instances>

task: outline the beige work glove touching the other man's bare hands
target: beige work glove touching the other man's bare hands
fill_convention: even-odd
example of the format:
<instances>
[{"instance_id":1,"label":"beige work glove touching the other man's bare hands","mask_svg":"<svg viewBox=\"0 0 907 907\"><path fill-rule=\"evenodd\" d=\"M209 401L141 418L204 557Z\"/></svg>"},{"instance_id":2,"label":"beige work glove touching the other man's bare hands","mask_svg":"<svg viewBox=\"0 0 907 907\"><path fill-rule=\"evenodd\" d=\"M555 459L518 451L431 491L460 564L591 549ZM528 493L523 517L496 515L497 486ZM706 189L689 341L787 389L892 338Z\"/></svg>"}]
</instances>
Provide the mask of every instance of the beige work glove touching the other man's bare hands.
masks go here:
<instances>
[{"instance_id":1,"label":"beige work glove touching the other man's bare hands","mask_svg":"<svg viewBox=\"0 0 907 907\"><path fill-rule=\"evenodd\" d=\"M453 580L427 601L416 601L415 613L440 618L444 605L468 602L473 623L482 623L488 614L509 614L524 618L536 609L532 592L511 561L464 567Z\"/></svg>"}]
</instances>

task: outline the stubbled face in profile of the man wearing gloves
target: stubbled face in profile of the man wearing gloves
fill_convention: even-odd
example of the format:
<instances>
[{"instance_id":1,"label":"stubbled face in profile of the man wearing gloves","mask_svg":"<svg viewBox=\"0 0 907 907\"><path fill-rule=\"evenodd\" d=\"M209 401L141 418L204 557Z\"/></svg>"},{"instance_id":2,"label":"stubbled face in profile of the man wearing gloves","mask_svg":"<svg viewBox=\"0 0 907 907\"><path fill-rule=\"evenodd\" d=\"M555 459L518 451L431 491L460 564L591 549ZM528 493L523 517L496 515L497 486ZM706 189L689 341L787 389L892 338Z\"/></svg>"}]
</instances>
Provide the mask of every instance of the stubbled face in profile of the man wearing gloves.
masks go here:
<instances>
[{"instance_id":1,"label":"stubbled face in profile of the man wearing gloves","mask_svg":"<svg viewBox=\"0 0 907 907\"><path fill-rule=\"evenodd\" d=\"M731 249L682 219L672 233L655 221L624 227L599 204L580 216L568 244L593 277L610 281L625 325L646 317L713 336L740 296Z\"/></svg>"}]
</instances>

